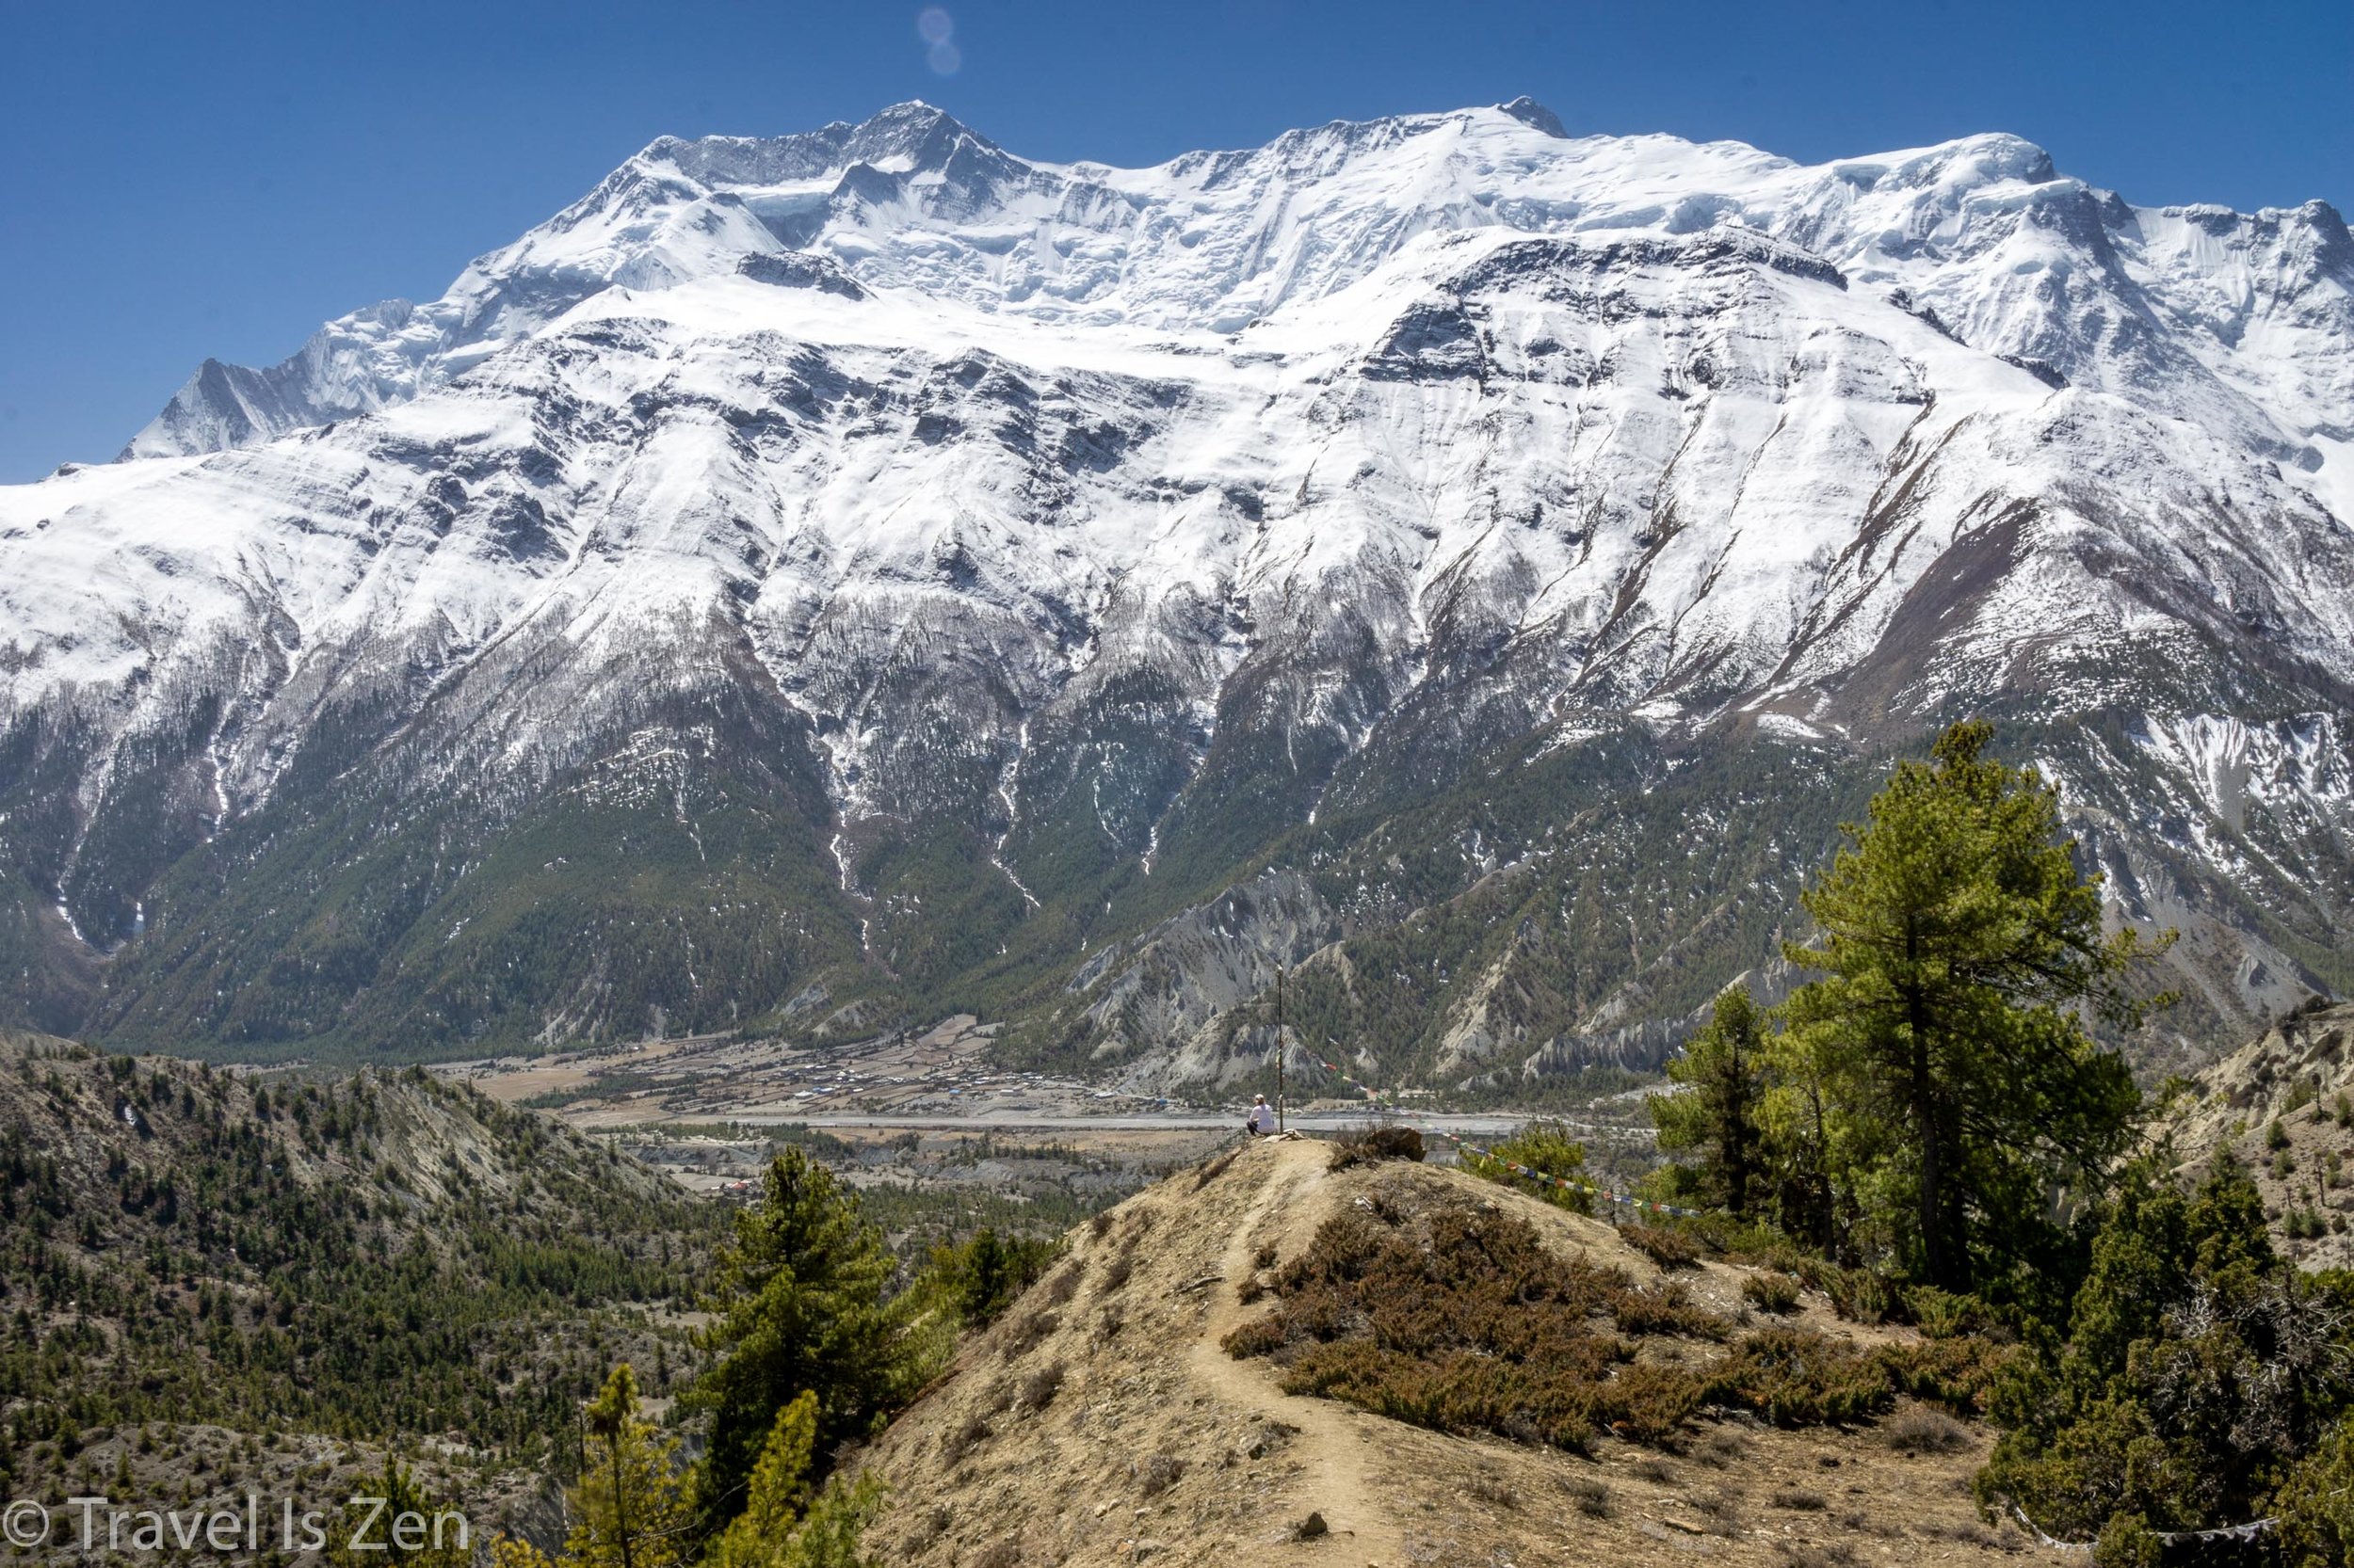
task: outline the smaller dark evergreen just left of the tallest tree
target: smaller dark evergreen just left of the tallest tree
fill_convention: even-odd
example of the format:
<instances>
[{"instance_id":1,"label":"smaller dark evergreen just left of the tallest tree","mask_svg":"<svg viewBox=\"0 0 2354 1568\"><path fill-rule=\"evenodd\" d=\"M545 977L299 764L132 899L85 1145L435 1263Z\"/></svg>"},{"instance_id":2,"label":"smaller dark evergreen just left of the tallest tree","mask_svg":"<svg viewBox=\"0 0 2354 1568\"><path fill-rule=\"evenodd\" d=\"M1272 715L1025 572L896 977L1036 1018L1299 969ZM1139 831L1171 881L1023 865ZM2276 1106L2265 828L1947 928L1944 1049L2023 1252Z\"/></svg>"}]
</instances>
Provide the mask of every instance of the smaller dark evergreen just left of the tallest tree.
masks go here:
<instances>
[{"instance_id":1,"label":"smaller dark evergreen just left of the tallest tree","mask_svg":"<svg viewBox=\"0 0 2354 1568\"><path fill-rule=\"evenodd\" d=\"M1693 1036L1667 1076L1681 1095L1650 1095L1662 1154L1697 1154L1674 1168L1674 1191L1742 1220L1758 1212L1768 1170L1763 1125L1766 1012L1747 986L1718 994L1707 1029Z\"/></svg>"}]
</instances>

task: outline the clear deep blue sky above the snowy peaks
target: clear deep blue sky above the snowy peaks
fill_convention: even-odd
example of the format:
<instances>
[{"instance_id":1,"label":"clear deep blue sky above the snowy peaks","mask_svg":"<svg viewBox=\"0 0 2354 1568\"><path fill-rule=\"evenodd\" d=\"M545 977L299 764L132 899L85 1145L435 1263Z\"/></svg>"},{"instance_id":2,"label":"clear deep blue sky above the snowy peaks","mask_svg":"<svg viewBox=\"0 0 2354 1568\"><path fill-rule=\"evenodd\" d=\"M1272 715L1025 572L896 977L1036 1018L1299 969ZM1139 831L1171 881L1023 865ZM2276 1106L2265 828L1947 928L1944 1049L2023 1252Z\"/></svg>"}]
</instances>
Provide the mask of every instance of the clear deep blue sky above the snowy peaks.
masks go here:
<instances>
[{"instance_id":1,"label":"clear deep blue sky above the snowy peaks","mask_svg":"<svg viewBox=\"0 0 2354 1568\"><path fill-rule=\"evenodd\" d=\"M1570 132L1801 160L2008 129L2137 202L2354 210L2354 5L1690 0L0 0L0 480L106 459L205 358L271 363L657 134L930 99L1158 162L1528 92Z\"/></svg>"}]
</instances>

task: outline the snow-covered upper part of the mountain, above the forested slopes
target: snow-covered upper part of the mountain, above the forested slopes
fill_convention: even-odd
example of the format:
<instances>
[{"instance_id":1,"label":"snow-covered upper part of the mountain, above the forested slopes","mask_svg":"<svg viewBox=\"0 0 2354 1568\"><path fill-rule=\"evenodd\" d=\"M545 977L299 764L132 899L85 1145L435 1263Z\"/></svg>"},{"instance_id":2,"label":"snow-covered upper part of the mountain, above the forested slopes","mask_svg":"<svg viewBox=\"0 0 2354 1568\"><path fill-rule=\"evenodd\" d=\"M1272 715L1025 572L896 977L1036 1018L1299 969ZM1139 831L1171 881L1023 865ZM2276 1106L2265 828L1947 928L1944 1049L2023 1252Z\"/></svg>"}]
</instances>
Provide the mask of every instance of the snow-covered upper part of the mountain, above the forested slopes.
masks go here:
<instances>
[{"instance_id":1,"label":"snow-covered upper part of the mountain, above the forested slopes","mask_svg":"<svg viewBox=\"0 0 2354 1568\"><path fill-rule=\"evenodd\" d=\"M869 866L925 833L1017 918L1113 911L1241 817L1629 723L2196 716L2133 746L2217 831L2267 779L2354 826L2298 718L2354 702L2354 240L2015 137L664 139L438 301L207 365L129 457L0 490L0 793L66 784L16 869L99 949L360 758L386 831L499 824L737 706L885 965L944 895Z\"/></svg>"}]
</instances>

